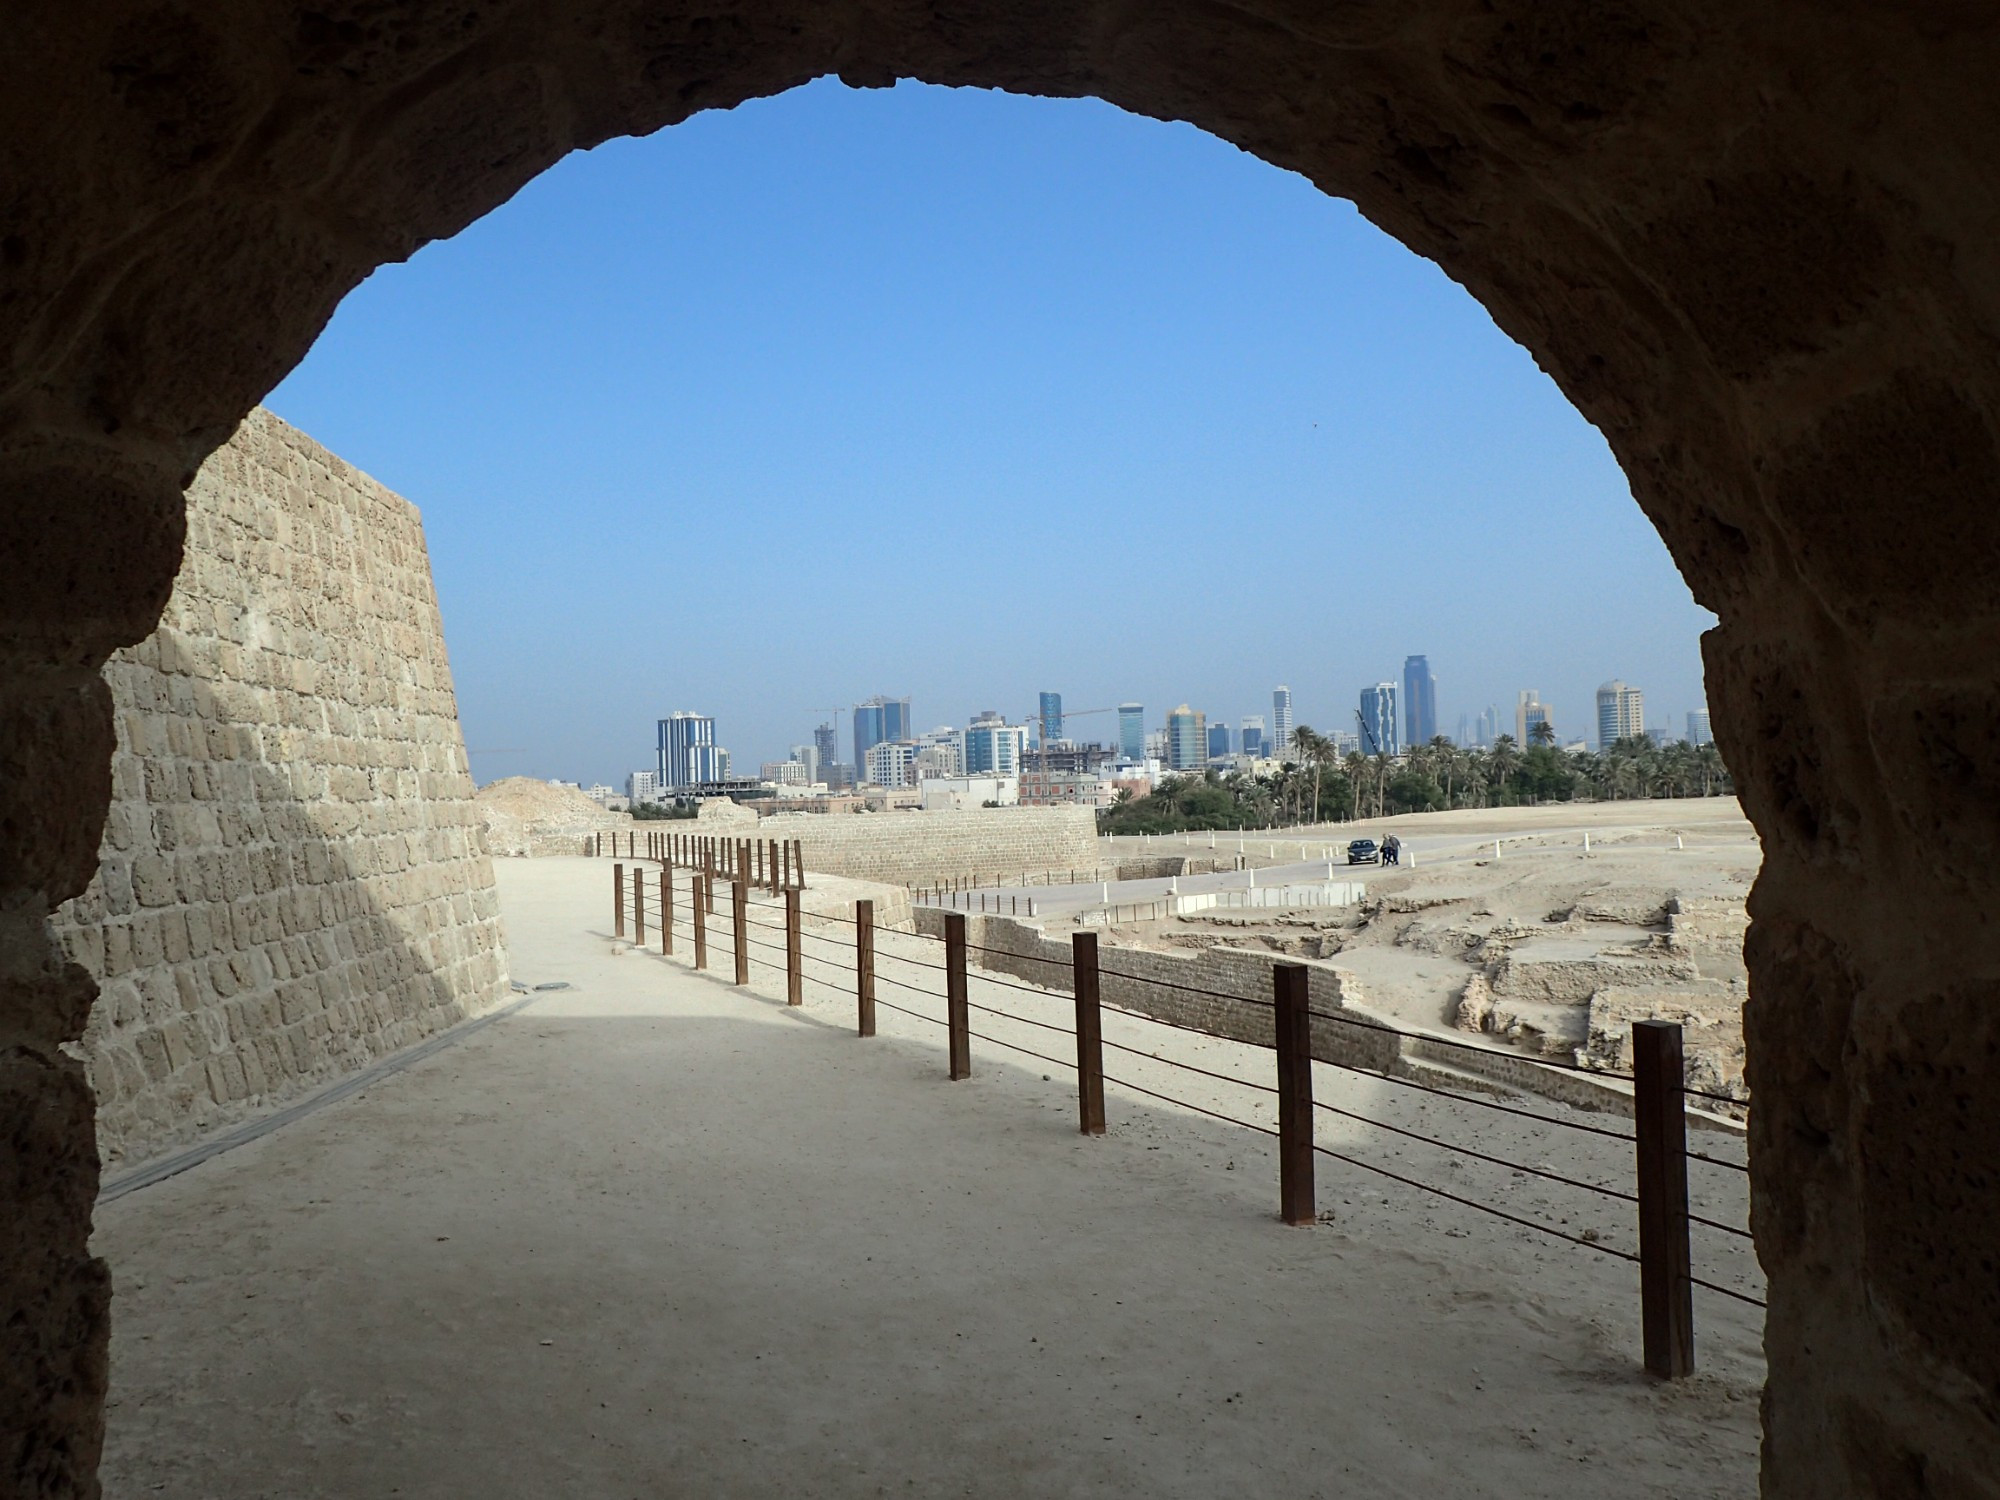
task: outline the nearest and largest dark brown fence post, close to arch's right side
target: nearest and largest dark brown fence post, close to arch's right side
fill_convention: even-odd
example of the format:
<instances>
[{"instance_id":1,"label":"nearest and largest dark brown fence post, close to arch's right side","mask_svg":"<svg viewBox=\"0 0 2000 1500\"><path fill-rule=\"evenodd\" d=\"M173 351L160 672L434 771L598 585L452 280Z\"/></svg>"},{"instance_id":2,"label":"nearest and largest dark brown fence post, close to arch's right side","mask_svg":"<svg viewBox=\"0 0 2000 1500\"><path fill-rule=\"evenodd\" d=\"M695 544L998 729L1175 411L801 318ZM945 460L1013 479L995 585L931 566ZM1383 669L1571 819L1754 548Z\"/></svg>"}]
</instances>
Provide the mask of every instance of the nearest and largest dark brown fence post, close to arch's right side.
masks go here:
<instances>
[{"instance_id":1,"label":"nearest and largest dark brown fence post, close to arch's right side","mask_svg":"<svg viewBox=\"0 0 2000 1500\"><path fill-rule=\"evenodd\" d=\"M1646 1368L1694 1374L1688 1250L1688 1100L1680 1024L1632 1022L1632 1124L1638 1146L1638 1296Z\"/></svg>"}]
</instances>

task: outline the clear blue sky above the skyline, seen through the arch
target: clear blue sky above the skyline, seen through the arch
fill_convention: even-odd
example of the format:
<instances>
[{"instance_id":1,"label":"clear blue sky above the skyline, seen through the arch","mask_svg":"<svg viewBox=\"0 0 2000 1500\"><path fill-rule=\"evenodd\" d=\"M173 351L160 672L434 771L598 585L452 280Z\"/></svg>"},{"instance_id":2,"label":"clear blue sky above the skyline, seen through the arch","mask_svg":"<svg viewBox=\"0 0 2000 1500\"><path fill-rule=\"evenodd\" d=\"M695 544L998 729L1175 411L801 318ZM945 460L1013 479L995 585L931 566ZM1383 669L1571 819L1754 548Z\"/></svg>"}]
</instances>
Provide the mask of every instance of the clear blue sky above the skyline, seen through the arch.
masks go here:
<instances>
[{"instance_id":1,"label":"clear blue sky above the skyline, seen through the arch","mask_svg":"<svg viewBox=\"0 0 2000 1500\"><path fill-rule=\"evenodd\" d=\"M422 508L482 782L622 786L678 708L754 772L876 692L1352 730L1410 652L1444 732L1702 706L1712 616L1470 296L1090 100L822 80L572 156L268 404Z\"/></svg>"}]
</instances>

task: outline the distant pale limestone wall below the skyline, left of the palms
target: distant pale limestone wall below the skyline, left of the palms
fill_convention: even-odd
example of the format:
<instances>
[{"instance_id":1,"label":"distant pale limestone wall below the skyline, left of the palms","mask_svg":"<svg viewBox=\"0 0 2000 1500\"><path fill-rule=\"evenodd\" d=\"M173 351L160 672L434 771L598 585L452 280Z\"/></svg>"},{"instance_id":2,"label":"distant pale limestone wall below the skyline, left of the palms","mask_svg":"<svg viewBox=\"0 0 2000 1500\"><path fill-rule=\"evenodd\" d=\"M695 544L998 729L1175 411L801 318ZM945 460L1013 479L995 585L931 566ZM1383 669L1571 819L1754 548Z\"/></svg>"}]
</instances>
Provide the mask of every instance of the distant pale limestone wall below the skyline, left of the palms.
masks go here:
<instances>
[{"instance_id":1,"label":"distant pale limestone wall below the skyline, left of the palms","mask_svg":"<svg viewBox=\"0 0 2000 1500\"><path fill-rule=\"evenodd\" d=\"M1098 862L1090 808L780 812L744 832L800 840L808 872L890 884L1084 870Z\"/></svg>"}]
</instances>

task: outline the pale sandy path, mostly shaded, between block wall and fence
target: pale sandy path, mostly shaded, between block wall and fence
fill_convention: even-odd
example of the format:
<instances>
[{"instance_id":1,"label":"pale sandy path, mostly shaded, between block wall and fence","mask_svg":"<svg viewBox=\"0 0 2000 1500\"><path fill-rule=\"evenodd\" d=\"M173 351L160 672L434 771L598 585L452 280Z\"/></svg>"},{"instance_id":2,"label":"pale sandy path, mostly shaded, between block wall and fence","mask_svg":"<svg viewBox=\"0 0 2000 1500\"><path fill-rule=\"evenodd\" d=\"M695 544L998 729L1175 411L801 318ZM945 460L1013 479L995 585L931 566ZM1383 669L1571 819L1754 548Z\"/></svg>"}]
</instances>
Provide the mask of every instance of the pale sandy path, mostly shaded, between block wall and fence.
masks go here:
<instances>
[{"instance_id":1,"label":"pale sandy path, mostly shaded, between block wall and fence","mask_svg":"<svg viewBox=\"0 0 2000 1500\"><path fill-rule=\"evenodd\" d=\"M846 974L690 974L608 934L602 862L504 862L536 998L356 1098L104 1206L108 1494L1750 1496L1758 1314L1696 1292L1702 1374L1638 1368L1636 1270L1320 1160L1286 1228L1266 1136L882 1010ZM760 918L768 920L766 914ZM724 928L726 930L726 928ZM760 940L776 940L760 932ZM836 962L838 940L808 942ZM760 958L776 954L758 950ZM942 1014L938 950L882 998ZM838 984L840 988L832 988ZM974 976L976 1004L1070 1002ZM1070 1038L976 1012L1062 1058ZM1108 1018L1112 1042L1264 1082L1270 1054ZM1110 1070L1270 1118L1126 1052ZM1616 1126L1316 1070L1322 1100L1612 1186ZM1322 1118L1320 1140L1630 1246L1624 1202ZM1738 1152L1728 1138L1696 1146ZM1694 1164L1742 1222L1742 1178ZM1710 1232L1696 1270L1760 1292Z\"/></svg>"}]
</instances>

